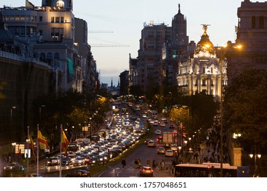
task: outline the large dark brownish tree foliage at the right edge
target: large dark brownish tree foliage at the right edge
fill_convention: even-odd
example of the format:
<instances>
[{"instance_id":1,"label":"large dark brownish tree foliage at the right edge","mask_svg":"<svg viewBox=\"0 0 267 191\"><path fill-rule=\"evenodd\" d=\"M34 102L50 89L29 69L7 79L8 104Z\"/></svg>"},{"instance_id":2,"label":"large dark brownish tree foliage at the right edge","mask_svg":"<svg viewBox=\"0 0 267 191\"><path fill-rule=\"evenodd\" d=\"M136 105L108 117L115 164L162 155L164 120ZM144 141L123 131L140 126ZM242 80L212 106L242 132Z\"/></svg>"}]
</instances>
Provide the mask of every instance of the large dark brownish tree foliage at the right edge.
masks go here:
<instances>
[{"instance_id":1,"label":"large dark brownish tree foliage at the right edge","mask_svg":"<svg viewBox=\"0 0 267 191\"><path fill-rule=\"evenodd\" d=\"M267 71L246 70L225 89L225 121L241 141L267 146ZM248 148L249 149L249 148ZM250 151L250 150L249 150Z\"/></svg>"}]
</instances>

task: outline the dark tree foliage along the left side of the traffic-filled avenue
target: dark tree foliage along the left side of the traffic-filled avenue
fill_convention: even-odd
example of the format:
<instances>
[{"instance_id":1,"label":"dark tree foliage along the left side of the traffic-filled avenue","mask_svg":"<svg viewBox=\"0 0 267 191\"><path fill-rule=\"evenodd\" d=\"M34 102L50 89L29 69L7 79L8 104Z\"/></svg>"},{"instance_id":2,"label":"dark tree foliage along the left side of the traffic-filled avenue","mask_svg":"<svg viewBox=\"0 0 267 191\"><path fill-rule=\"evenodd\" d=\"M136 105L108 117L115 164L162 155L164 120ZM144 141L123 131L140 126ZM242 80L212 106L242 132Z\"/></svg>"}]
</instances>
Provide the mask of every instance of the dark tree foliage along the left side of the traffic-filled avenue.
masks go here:
<instances>
[{"instance_id":1,"label":"dark tree foliage along the left side of the traffic-filled avenue","mask_svg":"<svg viewBox=\"0 0 267 191\"><path fill-rule=\"evenodd\" d=\"M98 92L103 93L105 92ZM44 136L49 137L49 143L59 143L60 126L66 129L67 138L73 131L81 133L82 127L87 125L90 117L97 111L97 116L92 117L101 123L105 113L109 110L109 100L99 94L84 94L77 91L66 91L58 94L52 93L36 100L33 111L35 123L40 123L40 130ZM95 122L95 121L94 121Z\"/></svg>"}]
</instances>

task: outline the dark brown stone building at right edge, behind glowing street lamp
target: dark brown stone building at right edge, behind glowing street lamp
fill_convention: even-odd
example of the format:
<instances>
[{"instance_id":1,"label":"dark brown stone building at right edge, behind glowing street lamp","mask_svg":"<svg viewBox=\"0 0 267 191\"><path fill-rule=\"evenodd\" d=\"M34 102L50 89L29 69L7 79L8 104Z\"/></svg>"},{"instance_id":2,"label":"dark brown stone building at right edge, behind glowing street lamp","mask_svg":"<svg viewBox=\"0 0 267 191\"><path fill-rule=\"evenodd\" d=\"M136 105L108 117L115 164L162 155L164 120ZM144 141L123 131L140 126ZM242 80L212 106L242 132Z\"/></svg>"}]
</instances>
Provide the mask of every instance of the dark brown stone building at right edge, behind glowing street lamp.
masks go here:
<instances>
[{"instance_id":1,"label":"dark brown stone building at right edge, behind glowing street lamp","mask_svg":"<svg viewBox=\"0 0 267 191\"><path fill-rule=\"evenodd\" d=\"M267 2L244 0L237 15L236 42L226 50L229 84L246 69L267 69Z\"/></svg>"}]
</instances>

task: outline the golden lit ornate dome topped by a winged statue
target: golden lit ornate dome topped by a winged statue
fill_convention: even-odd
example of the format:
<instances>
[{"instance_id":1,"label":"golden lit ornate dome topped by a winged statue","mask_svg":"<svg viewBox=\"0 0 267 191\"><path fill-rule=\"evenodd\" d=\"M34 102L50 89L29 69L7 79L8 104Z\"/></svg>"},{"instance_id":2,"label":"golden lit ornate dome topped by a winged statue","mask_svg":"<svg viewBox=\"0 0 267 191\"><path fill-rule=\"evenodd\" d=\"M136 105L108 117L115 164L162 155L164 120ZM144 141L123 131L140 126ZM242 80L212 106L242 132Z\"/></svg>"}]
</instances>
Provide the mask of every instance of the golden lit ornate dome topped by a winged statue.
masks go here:
<instances>
[{"instance_id":1,"label":"golden lit ornate dome topped by a winged statue","mask_svg":"<svg viewBox=\"0 0 267 191\"><path fill-rule=\"evenodd\" d=\"M196 44L196 49L194 50L194 57L216 57L216 50L214 45L209 40L209 35L207 35L207 26L203 25L203 35L201 36L201 40Z\"/></svg>"}]
</instances>

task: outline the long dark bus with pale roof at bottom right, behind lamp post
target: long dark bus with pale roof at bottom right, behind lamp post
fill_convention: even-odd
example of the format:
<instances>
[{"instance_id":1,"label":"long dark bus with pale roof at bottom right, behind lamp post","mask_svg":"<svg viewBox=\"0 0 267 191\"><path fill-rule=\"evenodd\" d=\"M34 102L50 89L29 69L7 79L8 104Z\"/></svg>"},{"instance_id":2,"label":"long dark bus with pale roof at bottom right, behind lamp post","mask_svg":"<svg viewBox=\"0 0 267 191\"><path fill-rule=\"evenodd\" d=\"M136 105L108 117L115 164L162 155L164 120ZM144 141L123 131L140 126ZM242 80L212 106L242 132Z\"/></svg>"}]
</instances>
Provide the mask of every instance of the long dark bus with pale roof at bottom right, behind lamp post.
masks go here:
<instances>
[{"instance_id":1,"label":"long dark bus with pale roof at bottom right, behind lamp post","mask_svg":"<svg viewBox=\"0 0 267 191\"><path fill-rule=\"evenodd\" d=\"M175 177L220 177L220 163L177 164ZM249 166L223 164L223 177L249 177Z\"/></svg>"}]
</instances>

